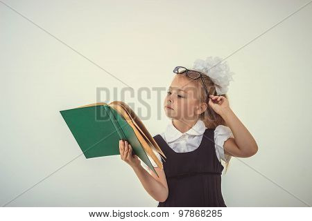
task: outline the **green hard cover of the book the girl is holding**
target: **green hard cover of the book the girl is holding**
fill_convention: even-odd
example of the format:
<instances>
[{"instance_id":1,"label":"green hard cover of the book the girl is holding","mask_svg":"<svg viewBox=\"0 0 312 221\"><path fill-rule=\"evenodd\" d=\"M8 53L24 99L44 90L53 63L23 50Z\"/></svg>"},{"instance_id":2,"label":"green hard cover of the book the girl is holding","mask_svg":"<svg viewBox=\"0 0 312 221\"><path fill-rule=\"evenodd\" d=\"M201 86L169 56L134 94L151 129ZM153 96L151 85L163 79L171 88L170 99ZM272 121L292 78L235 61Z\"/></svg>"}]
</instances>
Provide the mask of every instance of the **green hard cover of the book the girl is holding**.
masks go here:
<instances>
[{"instance_id":1,"label":"green hard cover of the book the girl is holding","mask_svg":"<svg viewBox=\"0 0 312 221\"><path fill-rule=\"evenodd\" d=\"M114 108L107 105L87 106L60 111L60 114L87 159L120 155L119 140L127 140L132 146L132 153L158 176L135 131Z\"/></svg>"}]
</instances>

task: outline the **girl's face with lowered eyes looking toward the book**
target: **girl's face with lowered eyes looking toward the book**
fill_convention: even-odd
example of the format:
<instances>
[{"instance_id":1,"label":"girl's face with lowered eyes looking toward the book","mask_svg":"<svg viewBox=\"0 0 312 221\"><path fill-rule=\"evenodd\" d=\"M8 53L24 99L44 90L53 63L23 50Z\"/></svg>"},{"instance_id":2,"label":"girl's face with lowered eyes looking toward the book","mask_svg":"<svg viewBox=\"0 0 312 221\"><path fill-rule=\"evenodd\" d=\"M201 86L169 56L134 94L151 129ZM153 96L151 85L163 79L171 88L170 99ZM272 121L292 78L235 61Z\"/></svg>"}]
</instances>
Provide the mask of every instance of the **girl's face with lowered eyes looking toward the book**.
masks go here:
<instances>
[{"instance_id":1,"label":"girl's face with lowered eyes looking toward the book","mask_svg":"<svg viewBox=\"0 0 312 221\"><path fill-rule=\"evenodd\" d=\"M198 119L207 104L200 102L202 88L197 82L184 75L175 75L164 99L166 116L172 119L190 121Z\"/></svg>"}]
</instances>

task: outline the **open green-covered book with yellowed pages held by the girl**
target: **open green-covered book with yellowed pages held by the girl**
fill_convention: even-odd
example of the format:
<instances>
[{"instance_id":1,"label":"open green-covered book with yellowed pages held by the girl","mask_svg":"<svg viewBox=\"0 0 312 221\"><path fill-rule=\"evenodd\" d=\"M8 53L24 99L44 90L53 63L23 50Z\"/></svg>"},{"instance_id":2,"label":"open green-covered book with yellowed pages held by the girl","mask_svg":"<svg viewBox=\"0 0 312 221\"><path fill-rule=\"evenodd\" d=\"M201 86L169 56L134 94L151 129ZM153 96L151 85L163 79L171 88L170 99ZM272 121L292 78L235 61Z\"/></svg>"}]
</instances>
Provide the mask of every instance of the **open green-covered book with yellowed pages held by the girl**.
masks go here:
<instances>
[{"instance_id":1,"label":"open green-covered book with yellowed pages held by the girl","mask_svg":"<svg viewBox=\"0 0 312 221\"><path fill-rule=\"evenodd\" d=\"M87 159L120 155L119 140L127 140L132 146L132 154L136 154L157 176L150 157L163 169L154 151L163 159L166 156L139 117L124 102L87 104L60 113Z\"/></svg>"}]
</instances>

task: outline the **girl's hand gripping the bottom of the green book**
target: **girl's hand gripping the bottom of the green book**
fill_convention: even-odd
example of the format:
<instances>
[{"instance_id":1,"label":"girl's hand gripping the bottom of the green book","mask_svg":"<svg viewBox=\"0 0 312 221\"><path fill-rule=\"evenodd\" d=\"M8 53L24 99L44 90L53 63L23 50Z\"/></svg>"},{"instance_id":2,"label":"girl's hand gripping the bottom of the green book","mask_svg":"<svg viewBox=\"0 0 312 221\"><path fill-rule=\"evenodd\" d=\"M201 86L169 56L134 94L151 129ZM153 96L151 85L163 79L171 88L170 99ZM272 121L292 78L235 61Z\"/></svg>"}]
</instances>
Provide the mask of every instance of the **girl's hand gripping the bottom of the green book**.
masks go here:
<instances>
[{"instance_id":1,"label":"girl's hand gripping the bottom of the green book","mask_svg":"<svg viewBox=\"0 0 312 221\"><path fill-rule=\"evenodd\" d=\"M132 155L132 146L128 141L119 140L119 152L121 160L132 166L132 168L141 165L139 157L135 154Z\"/></svg>"}]
</instances>

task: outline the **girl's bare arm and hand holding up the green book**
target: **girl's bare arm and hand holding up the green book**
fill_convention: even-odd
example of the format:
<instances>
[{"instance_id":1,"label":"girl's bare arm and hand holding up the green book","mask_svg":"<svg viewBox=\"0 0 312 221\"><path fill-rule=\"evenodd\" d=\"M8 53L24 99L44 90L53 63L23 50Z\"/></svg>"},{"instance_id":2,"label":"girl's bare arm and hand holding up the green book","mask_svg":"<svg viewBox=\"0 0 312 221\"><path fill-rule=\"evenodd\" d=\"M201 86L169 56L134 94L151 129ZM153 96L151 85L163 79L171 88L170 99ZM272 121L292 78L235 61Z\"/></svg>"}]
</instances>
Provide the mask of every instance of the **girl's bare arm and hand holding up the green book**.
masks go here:
<instances>
[{"instance_id":1,"label":"girl's bare arm and hand holding up the green book","mask_svg":"<svg viewBox=\"0 0 312 221\"><path fill-rule=\"evenodd\" d=\"M119 141L119 152L121 160L132 167L148 194L158 202L166 201L168 198L168 185L164 170L159 169L159 167L154 167L159 177L154 173L148 173L148 171L141 166L139 157L137 157L137 155L132 155L132 146L128 144L127 141Z\"/></svg>"}]
</instances>

